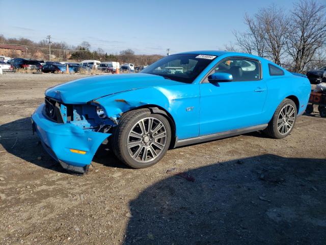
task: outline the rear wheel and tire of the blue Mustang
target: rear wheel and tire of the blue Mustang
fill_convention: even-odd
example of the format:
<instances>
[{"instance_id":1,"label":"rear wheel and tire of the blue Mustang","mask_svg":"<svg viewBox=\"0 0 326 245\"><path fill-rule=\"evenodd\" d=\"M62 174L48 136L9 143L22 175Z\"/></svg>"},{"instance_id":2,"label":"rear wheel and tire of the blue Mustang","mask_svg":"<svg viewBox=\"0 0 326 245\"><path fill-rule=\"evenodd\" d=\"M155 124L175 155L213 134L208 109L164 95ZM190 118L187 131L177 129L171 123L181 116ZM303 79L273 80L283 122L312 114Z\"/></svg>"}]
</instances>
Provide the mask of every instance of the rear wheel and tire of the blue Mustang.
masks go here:
<instances>
[{"instance_id":1,"label":"rear wheel and tire of the blue Mustang","mask_svg":"<svg viewBox=\"0 0 326 245\"><path fill-rule=\"evenodd\" d=\"M276 111L264 132L270 137L276 139L282 139L288 136L294 128L296 115L297 111L294 102L290 99L283 100L276 108Z\"/></svg>"}]
</instances>

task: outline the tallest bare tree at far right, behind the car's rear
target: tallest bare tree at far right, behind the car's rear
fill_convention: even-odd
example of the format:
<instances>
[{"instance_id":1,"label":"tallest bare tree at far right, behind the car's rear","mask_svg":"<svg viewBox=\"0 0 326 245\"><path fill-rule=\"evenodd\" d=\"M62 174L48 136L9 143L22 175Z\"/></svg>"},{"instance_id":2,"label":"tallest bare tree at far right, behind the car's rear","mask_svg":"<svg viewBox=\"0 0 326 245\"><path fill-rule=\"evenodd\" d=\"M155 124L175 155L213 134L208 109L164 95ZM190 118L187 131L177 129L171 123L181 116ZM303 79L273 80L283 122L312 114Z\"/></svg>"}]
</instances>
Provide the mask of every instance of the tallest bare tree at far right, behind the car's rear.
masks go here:
<instances>
[{"instance_id":1,"label":"tallest bare tree at far right, behind the car's rear","mask_svg":"<svg viewBox=\"0 0 326 245\"><path fill-rule=\"evenodd\" d=\"M287 41L292 70L303 72L316 52L326 44L325 6L314 0L294 4L291 15L291 35Z\"/></svg>"}]
</instances>

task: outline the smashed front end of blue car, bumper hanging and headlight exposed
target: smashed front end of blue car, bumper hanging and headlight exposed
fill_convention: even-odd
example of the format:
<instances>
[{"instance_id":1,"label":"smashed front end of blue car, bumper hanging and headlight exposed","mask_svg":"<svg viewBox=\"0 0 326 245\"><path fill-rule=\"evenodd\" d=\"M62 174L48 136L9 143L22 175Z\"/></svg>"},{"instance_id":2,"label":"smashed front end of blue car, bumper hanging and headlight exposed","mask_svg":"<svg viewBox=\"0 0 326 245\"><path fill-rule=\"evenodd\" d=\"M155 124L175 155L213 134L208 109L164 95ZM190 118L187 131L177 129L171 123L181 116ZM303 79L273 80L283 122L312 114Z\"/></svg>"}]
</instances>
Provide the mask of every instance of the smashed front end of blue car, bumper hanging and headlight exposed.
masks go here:
<instances>
[{"instance_id":1,"label":"smashed front end of blue car, bumper hanging and headlight exposed","mask_svg":"<svg viewBox=\"0 0 326 245\"><path fill-rule=\"evenodd\" d=\"M104 109L93 102L71 105L45 97L45 103L32 115L32 124L52 158L66 169L86 173L117 119L106 116Z\"/></svg>"}]
</instances>

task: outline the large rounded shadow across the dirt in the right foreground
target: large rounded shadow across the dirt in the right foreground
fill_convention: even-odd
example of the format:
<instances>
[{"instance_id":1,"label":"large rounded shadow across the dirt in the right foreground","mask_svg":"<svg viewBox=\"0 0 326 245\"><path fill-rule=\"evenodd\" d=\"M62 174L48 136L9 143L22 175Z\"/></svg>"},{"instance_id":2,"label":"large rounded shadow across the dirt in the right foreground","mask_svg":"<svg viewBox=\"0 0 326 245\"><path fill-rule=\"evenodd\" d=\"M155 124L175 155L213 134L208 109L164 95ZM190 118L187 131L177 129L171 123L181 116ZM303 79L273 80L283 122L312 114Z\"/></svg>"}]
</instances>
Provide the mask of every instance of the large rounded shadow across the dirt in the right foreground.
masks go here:
<instances>
[{"instance_id":1,"label":"large rounded shadow across the dirt in the right foreground","mask_svg":"<svg viewBox=\"0 0 326 245\"><path fill-rule=\"evenodd\" d=\"M124 244L326 244L324 159L262 155L169 174L130 202Z\"/></svg>"}]
</instances>

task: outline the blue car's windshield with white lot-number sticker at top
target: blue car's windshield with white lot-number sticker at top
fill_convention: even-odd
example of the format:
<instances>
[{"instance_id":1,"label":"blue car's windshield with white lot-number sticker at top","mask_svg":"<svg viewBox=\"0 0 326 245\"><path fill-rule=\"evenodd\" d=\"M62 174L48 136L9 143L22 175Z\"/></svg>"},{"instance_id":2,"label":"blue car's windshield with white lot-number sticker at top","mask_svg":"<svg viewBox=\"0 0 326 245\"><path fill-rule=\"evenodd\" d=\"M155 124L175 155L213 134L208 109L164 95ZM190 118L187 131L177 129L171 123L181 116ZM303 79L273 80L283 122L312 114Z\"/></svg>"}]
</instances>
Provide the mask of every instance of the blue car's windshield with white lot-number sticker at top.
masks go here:
<instances>
[{"instance_id":1,"label":"blue car's windshield with white lot-number sticker at top","mask_svg":"<svg viewBox=\"0 0 326 245\"><path fill-rule=\"evenodd\" d=\"M182 54L164 57L140 73L158 75L183 83L192 83L216 56Z\"/></svg>"}]
</instances>

